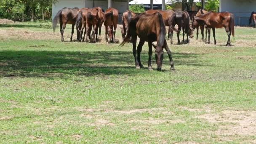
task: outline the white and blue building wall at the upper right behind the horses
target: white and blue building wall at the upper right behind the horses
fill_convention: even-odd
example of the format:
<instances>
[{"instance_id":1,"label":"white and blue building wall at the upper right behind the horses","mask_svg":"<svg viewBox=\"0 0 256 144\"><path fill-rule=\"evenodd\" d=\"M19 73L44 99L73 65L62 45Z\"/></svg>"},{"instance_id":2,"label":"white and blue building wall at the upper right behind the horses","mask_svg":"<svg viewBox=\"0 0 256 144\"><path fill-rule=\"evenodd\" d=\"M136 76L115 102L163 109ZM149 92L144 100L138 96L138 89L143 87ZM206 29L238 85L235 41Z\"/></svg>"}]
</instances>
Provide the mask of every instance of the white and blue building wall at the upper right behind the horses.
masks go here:
<instances>
[{"instance_id":1,"label":"white and blue building wall at the upper right behind the horses","mask_svg":"<svg viewBox=\"0 0 256 144\"><path fill-rule=\"evenodd\" d=\"M256 0L220 0L220 11L235 15L235 24L248 25L252 11L256 11Z\"/></svg>"}]
</instances>

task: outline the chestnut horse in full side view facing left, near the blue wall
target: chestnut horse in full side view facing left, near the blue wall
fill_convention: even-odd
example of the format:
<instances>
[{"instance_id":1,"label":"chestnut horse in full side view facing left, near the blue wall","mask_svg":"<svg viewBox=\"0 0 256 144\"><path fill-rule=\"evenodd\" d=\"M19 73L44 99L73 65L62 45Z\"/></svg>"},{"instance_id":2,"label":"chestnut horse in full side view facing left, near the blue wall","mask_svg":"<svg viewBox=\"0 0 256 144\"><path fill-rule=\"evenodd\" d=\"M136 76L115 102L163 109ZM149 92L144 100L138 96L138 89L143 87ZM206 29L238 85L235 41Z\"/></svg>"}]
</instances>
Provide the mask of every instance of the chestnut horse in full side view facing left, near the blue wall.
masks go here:
<instances>
[{"instance_id":1,"label":"chestnut horse in full side view facing left, near the blue wall","mask_svg":"<svg viewBox=\"0 0 256 144\"><path fill-rule=\"evenodd\" d=\"M229 12L208 12L201 16L194 18L199 24L205 24L208 30L208 43L210 44L210 37L211 37L211 28L213 29L213 37L214 37L214 44L216 45L215 39L215 28L222 28L224 27L227 35L227 46L230 46L230 35L235 36L235 17L232 13Z\"/></svg>"}]
</instances>

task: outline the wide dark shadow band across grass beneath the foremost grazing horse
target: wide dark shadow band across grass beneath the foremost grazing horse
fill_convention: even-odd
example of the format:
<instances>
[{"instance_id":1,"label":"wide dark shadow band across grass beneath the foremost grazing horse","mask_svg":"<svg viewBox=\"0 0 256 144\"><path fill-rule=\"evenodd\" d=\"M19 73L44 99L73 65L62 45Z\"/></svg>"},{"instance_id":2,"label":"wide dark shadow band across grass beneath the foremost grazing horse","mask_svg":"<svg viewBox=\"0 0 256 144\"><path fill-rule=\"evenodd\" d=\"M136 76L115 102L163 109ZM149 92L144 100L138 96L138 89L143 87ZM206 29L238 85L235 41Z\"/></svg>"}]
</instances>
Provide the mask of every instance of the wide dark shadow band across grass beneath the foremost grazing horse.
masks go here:
<instances>
[{"instance_id":1,"label":"wide dark shadow band across grass beneath the foremost grazing horse","mask_svg":"<svg viewBox=\"0 0 256 144\"><path fill-rule=\"evenodd\" d=\"M0 77L137 75L139 72L135 69L132 51L0 51L0 56ZM200 54L173 53L176 66L209 66L196 60L198 57ZM147 51L142 51L144 66L147 60ZM155 56L152 64L155 70ZM163 65L170 65L167 53Z\"/></svg>"}]
</instances>

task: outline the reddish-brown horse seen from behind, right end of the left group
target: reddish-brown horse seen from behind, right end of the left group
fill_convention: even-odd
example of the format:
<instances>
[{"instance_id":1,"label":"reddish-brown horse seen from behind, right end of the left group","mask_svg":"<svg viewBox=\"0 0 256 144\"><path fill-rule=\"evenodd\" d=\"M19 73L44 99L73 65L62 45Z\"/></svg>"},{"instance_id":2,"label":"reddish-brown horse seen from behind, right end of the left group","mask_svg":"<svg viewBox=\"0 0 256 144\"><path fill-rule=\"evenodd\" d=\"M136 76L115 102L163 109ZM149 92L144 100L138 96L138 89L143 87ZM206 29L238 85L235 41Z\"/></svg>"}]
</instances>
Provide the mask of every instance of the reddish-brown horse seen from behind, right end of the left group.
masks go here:
<instances>
[{"instance_id":1,"label":"reddish-brown horse seen from behind, right end of the left group","mask_svg":"<svg viewBox=\"0 0 256 144\"><path fill-rule=\"evenodd\" d=\"M105 35L107 43L110 43L111 41L115 43L115 32L117 29L117 22L118 10L115 8L108 8L104 15Z\"/></svg>"}]
</instances>

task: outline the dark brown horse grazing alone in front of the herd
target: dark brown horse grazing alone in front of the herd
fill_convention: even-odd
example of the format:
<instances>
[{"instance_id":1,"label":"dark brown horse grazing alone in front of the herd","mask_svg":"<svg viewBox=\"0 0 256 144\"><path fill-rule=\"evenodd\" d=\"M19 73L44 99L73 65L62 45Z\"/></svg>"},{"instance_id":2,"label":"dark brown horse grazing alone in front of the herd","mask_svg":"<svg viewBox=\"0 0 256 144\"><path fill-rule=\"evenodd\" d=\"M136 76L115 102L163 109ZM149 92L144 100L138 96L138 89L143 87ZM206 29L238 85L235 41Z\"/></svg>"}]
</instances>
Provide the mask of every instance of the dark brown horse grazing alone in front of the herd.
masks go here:
<instances>
[{"instance_id":1,"label":"dark brown horse grazing alone in front of the herd","mask_svg":"<svg viewBox=\"0 0 256 144\"><path fill-rule=\"evenodd\" d=\"M157 41L156 50L155 50L155 58L157 62L157 70L161 71L162 63L163 63L163 48L168 53L169 59L171 61L171 69L174 70L174 64L171 56L171 51L168 48L167 42L165 40L166 29L165 24L162 18L162 15L159 12L154 14L140 13L131 19L128 24L128 33L120 44L122 47L125 43L130 42L130 39L133 43L133 56L135 58L135 65L137 69L143 67L141 64L141 50L145 41L148 42L149 45L149 61L148 68L152 70L151 66L151 57L152 57L152 43ZM140 38L139 45L136 53L136 42L137 37ZM136 57L137 55L137 57Z\"/></svg>"}]
</instances>

